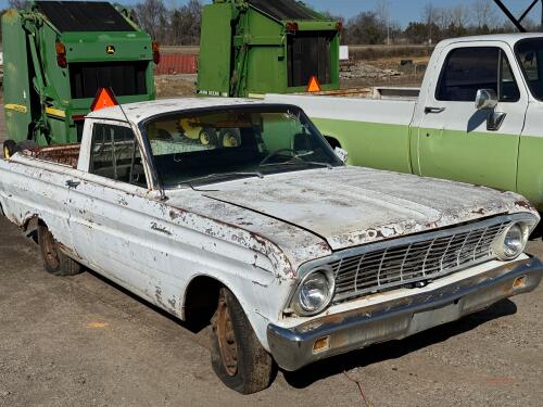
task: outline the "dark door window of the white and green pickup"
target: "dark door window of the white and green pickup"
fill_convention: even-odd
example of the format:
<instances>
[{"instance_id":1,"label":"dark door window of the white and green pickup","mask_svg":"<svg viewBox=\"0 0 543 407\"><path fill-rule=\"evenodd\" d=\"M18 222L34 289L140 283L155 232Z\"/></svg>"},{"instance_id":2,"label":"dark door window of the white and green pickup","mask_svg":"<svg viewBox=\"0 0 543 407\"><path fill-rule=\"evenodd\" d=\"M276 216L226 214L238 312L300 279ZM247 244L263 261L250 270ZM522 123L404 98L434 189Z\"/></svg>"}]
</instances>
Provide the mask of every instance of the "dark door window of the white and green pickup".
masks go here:
<instances>
[{"instance_id":1,"label":"dark door window of the white and green pickup","mask_svg":"<svg viewBox=\"0 0 543 407\"><path fill-rule=\"evenodd\" d=\"M520 99L515 76L505 53L495 47L457 48L447 55L435 99L473 102L479 89L493 89L501 102Z\"/></svg>"}]
</instances>

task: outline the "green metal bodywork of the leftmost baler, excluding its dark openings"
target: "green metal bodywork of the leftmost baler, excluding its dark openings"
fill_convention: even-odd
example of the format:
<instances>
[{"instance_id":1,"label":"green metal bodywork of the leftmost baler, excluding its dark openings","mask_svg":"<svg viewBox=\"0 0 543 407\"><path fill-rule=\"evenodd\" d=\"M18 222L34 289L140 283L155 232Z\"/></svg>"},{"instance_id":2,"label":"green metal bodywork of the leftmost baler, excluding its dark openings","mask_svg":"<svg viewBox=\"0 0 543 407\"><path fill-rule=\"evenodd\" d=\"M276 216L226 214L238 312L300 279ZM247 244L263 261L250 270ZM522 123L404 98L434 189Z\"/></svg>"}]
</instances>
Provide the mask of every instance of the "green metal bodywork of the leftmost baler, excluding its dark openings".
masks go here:
<instances>
[{"instance_id":1,"label":"green metal bodywork of the leftmost baler, excluding its dark openings","mask_svg":"<svg viewBox=\"0 0 543 407\"><path fill-rule=\"evenodd\" d=\"M75 99L72 96L70 66L75 63L147 63L144 67L146 93L117 97L119 103L153 100L154 63L151 37L135 27L134 31L59 31L39 11L8 11L2 17L4 41L4 103L21 104L26 94L27 113L7 113L8 137L15 141L35 138L40 144L76 142L79 119L90 111L93 98ZM56 62L55 43L66 49L68 67ZM115 52L108 53L113 47ZM8 66L12 68L10 69ZM33 84L34 82L34 84ZM74 120L74 116L78 122ZM78 125L77 125L78 124ZM29 128L36 128L29 133Z\"/></svg>"}]
</instances>

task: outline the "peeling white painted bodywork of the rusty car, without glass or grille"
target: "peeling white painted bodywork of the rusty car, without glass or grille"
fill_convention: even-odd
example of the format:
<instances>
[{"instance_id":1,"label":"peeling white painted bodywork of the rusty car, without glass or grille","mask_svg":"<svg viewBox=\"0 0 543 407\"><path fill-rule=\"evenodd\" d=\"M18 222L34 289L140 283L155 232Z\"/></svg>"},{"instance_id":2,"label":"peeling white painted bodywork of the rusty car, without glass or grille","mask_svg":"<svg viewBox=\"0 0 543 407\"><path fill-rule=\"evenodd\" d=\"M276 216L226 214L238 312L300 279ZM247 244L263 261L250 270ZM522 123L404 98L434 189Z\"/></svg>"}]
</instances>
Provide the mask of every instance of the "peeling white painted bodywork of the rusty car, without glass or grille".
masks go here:
<instances>
[{"instance_id":1,"label":"peeling white painted bodywork of the rusty car, without glass or grille","mask_svg":"<svg viewBox=\"0 0 543 407\"><path fill-rule=\"evenodd\" d=\"M199 98L124 110L137 128L159 113L247 103L260 102ZM193 279L220 281L266 348L267 325L282 319L298 269L310 260L497 214L538 216L514 193L356 167L179 189L162 200L161 191L87 173L94 119L124 116L118 107L89 115L78 168L21 153L0 161L4 214L21 226L40 218L79 262L180 318Z\"/></svg>"}]
</instances>

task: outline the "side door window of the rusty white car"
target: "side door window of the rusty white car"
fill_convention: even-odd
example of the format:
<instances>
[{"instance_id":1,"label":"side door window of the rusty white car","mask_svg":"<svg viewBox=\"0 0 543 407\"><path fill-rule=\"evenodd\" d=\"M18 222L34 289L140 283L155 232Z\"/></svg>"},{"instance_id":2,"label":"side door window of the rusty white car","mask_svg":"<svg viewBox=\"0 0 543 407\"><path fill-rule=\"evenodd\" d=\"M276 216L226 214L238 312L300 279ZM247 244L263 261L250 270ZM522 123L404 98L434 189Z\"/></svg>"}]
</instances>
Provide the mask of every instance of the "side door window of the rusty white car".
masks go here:
<instances>
[{"instance_id":1,"label":"side door window of the rusty white car","mask_svg":"<svg viewBox=\"0 0 543 407\"><path fill-rule=\"evenodd\" d=\"M93 125L89 173L147 188L139 145L129 127Z\"/></svg>"}]
</instances>

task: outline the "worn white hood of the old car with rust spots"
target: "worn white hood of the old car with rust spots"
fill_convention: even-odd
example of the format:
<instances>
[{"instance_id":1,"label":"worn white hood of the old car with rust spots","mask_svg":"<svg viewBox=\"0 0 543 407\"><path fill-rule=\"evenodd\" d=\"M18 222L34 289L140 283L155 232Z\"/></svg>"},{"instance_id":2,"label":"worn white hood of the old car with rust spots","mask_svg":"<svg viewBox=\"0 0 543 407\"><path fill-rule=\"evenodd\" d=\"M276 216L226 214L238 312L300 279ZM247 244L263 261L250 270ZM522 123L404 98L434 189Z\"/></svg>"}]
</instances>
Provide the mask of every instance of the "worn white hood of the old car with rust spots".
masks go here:
<instances>
[{"instance_id":1,"label":"worn white hood of the old car with rust spots","mask_svg":"<svg viewBox=\"0 0 543 407\"><path fill-rule=\"evenodd\" d=\"M532 212L515 193L359 167L243 179L203 190L213 200L311 231L332 250Z\"/></svg>"}]
</instances>

